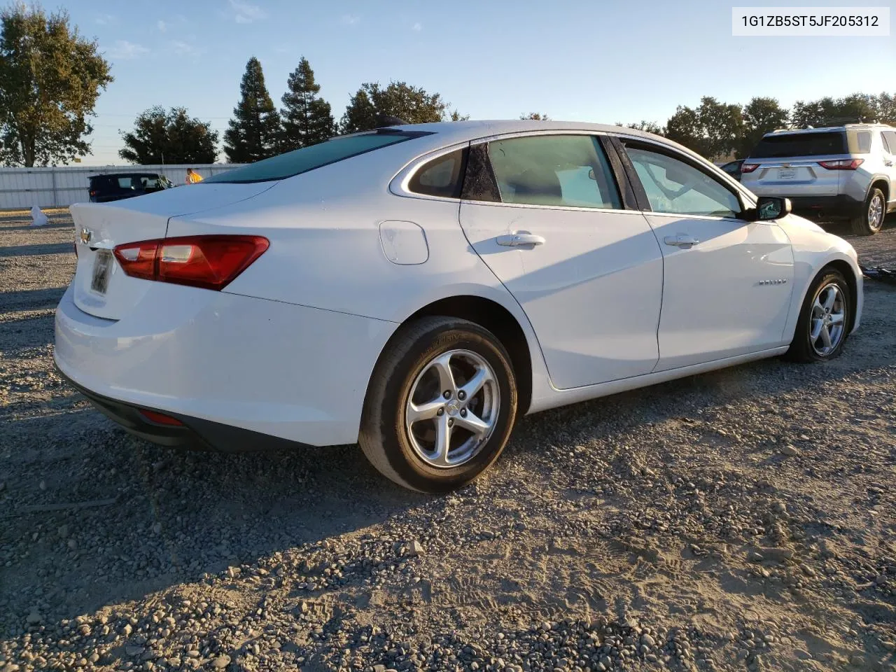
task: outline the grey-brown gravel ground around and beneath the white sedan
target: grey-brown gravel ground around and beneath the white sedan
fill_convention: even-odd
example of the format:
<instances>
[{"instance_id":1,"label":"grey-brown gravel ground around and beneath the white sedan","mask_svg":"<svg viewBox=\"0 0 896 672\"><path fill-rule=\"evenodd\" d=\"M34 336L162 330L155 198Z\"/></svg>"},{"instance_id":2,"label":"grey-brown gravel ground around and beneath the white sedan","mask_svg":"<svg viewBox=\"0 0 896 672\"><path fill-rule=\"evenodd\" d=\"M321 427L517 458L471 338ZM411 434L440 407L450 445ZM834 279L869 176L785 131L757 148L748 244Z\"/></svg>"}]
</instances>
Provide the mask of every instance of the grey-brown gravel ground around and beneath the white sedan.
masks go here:
<instances>
[{"instance_id":1,"label":"grey-brown gravel ground around and beneath the white sedan","mask_svg":"<svg viewBox=\"0 0 896 672\"><path fill-rule=\"evenodd\" d=\"M2 672L896 668L896 288L828 365L525 418L429 497L356 446L118 429L52 365L50 220L0 217ZM896 264L896 229L854 243Z\"/></svg>"}]
</instances>

